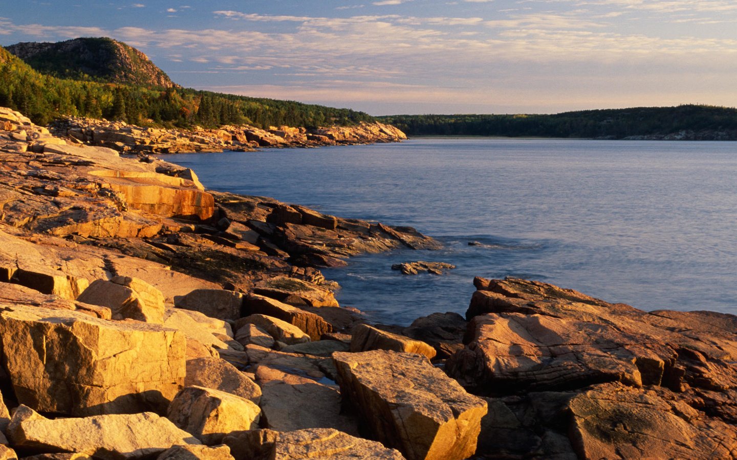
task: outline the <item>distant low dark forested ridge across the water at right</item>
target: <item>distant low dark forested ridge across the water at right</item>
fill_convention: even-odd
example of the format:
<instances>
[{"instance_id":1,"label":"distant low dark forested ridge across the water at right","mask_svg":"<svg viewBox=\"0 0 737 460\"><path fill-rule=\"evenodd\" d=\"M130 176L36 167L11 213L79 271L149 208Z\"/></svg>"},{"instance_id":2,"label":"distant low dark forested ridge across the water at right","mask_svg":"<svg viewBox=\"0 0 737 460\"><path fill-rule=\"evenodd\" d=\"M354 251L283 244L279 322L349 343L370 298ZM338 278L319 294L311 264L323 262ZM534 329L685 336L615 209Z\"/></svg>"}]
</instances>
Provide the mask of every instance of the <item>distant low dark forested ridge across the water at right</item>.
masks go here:
<instances>
[{"instance_id":1,"label":"distant low dark forested ridge across the water at right","mask_svg":"<svg viewBox=\"0 0 737 460\"><path fill-rule=\"evenodd\" d=\"M708 105L583 110L555 115L377 117L407 135L737 140L737 109Z\"/></svg>"}]
</instances>

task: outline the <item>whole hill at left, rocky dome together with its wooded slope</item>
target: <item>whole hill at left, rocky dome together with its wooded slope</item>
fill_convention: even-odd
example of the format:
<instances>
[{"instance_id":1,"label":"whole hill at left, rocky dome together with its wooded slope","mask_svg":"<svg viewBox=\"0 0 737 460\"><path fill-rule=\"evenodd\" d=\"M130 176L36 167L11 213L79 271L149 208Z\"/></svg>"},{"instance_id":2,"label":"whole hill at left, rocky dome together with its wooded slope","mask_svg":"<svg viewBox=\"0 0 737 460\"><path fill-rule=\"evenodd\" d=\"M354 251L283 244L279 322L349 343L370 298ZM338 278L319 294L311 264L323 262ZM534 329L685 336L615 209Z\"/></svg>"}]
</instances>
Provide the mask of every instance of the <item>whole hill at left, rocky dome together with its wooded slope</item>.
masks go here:
<instances>
[{"instance_id":1,"label":"whole hill at left, rocky dome together with its wooded slope","mask_svg":"<svg viewBox=\"0 0 737 460\"><path fill-rule=\"evenodd\" d=\"M84 46L77 46L79 43ZM157 127L321 127L375 121L366 113L350 109L198 91L173 83L167 87L163 85L166 74L142 52L109 38L18 45L15 51L44 71L32 68L0 47L0 106L20 110L36 124L47 124L62 116L108 118ZM126 57L111 51L111 46L118 51L123 49ZM82 53L85 56L107 57L109 62L101 60L92 67L75 68L75 63L83 66L91 59L77 56L82 50L86 50ZM43 56L52 56L55 63L38 63ZM101 69L113 70L103 77Z\"/></svg>"}]
</instances>

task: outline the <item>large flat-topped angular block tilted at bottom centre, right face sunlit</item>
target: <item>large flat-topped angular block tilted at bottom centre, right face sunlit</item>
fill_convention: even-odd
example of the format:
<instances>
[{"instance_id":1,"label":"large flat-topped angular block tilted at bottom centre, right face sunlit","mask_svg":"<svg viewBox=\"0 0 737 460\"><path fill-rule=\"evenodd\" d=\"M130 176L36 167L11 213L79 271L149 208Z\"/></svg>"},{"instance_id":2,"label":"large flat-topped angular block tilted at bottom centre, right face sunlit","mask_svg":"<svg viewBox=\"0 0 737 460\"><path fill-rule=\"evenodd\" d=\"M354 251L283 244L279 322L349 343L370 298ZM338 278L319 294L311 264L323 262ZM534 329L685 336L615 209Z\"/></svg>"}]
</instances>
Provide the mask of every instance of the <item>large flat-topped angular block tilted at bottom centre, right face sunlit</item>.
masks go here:
<instances>
[{"instance_id":1,"label":"large flat-topped angular block tilted at bottom centre, right face sunlit","mask_svg":"<svg viewBox=\"0 0 737 460\"><path fill-rule=\"evenodd\" d=\"M466 459L476 450L486 401L424 355L374 350L335 353L340 394L371 434L410 460Z\"/></svg>"}]
</instances>

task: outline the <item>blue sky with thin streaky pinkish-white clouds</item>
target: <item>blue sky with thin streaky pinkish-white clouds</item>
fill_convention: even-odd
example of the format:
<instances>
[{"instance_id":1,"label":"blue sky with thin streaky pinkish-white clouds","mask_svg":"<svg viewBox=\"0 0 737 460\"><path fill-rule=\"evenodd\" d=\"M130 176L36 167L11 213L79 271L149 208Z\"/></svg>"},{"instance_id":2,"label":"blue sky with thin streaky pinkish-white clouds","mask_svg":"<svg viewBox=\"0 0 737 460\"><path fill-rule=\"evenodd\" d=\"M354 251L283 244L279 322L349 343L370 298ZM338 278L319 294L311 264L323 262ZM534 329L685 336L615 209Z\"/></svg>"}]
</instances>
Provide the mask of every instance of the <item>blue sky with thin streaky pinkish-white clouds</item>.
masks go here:
<instances>
[{"instance_id":1,"label":"blue sky with thin streaky pinkish-white clouds","mask_svg":"<svg viewBox=\"0 0 737 460\"><path fill-rule=\"evenodd\" d=\"M371 115L737 106L735 0L0 0L0 45L102 36L185 87Z\"/></svg>"}]
</instances>

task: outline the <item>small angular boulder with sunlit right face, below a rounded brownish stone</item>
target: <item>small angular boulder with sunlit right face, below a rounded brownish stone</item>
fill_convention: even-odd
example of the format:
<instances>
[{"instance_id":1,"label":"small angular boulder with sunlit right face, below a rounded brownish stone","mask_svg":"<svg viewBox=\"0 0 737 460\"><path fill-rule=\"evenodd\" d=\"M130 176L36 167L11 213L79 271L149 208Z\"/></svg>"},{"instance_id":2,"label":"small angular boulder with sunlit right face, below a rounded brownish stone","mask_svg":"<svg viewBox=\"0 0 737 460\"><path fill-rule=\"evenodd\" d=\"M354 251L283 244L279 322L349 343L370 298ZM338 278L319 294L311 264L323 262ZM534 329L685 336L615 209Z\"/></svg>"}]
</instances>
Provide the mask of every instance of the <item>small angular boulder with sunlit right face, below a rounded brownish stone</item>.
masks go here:
<instances>
[{"instance_id":1,"label":"small angular boulder with sunlit right face, below a rounded brownish stone","mask_svg":"<svg viewBox=\"0 0 737 460\"><path fill-rule=\"evenodd\" d=\"M186 386L172 400L167 418L206 445L220 444L231 431L258 428L259 406L231 393Z\"/></svg>"}]
</instances>

